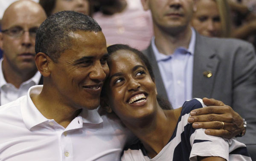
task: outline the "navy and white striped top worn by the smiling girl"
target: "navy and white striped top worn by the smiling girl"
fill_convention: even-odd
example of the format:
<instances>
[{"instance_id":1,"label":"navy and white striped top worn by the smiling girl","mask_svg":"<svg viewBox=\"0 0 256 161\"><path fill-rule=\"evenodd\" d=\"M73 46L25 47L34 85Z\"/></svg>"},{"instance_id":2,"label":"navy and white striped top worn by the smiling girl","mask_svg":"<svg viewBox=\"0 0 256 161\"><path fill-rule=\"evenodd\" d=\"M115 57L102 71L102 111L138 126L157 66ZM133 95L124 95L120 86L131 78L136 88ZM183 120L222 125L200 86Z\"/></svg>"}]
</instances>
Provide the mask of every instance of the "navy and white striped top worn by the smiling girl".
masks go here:
<instances>
[{"instance_id":1,"label":"navy and white striped top worn by the smiling girl","mask_svg":"<svg viewBox=\"0 0 256 161\"><path fill-rule=\"evenodd\" d=\"M124 151L122 161L197 161L197 156L219 156L227 161L251 161L244 144L235 138L206 135L204 129L194 129L188 123L189 112L204 107L201 99L186 101L169 143L152 159L137 140Z\"/></svg>"}]
</instances>

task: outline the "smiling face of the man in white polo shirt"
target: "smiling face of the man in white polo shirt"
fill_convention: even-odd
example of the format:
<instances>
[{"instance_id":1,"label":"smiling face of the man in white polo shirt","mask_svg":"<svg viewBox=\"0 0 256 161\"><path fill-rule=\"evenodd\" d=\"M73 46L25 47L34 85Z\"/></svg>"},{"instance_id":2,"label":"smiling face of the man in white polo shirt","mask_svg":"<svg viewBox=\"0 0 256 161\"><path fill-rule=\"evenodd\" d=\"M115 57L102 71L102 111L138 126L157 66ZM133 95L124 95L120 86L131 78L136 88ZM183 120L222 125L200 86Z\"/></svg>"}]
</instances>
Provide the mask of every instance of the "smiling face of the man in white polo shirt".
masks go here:
<instances>
[{"instance_id":1,"label":"smiling face of the man in white polo shirt","mask_svg":"<svg viewBox=\"0 0 256 161\"><path fill-rule=\"evenodd\" d=\"M70 32L71 45L52 62L51 81L56 95L75 109L95 109L109 74L106 40L102 32Z\"/></svg>"}]
</instances>

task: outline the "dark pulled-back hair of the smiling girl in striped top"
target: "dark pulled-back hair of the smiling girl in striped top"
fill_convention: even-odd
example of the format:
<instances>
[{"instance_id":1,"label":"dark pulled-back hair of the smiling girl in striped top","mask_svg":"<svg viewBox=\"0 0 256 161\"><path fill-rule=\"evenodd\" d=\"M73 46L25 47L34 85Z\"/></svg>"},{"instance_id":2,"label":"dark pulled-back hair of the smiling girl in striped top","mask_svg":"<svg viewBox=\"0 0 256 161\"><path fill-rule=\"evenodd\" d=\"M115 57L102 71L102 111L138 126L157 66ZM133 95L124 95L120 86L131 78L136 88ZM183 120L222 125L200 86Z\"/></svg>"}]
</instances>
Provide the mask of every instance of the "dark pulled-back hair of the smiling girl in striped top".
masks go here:
<instances>
[{"instance_id":1,"label":"dark pulled-back hair of the smiling girl in striped top","mask_svg":"<svg viewBox=\"0 0 256 161\"><path fill-rule=\"evenodd\" d=\"M132 47L130 47L128 45L124 45L124 44L115 44L115 45L108 46L107 50L108 50L108 54L109 55L111 55L114 52L117 52L119 50L128 50L128 51L133 52L145 64L146 68L148 69L148 72L149 72L149 75L150 75L151 79L154 81L154 73L153 73L153 70L152 70L152 66L151 66L148 58L142 52L140 52L139 50L134 49L134 48L132 48ZM108 59L110 59L110 57ZM106 95L106 91L105 90L106 90L105 86L103 86L102 97L104 95ZM163 98L162 96L160 96L160 95L157 95L157 102L158 102L159 106L162 109L172 109L171 103L168 100L166 100L165 98Z\"/></svg>"}]
</instances>

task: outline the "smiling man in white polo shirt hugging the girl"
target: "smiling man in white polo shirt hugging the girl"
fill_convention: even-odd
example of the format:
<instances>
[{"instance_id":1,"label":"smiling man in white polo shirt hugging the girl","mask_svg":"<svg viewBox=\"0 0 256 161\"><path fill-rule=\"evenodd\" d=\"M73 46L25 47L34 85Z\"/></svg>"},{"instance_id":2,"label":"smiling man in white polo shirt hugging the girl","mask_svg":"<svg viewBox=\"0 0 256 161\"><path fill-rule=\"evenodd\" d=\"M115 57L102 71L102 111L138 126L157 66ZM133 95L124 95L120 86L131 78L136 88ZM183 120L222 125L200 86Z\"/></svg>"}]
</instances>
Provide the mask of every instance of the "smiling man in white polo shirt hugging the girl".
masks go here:
<instances>
[{"instance_id":1,"label":"smiling man in white polo shirt hugging the girl","mask_svg":"<svg viewBox=\"0 0 256 161\"><path fill-rule=\"evenodd\" d=\"M35 42L44 86L1 106L0 160L119 161L131 132L116 115L96 109L109 74L100 26L61 11L41 24Z\"/></svg>"}]
</instances>

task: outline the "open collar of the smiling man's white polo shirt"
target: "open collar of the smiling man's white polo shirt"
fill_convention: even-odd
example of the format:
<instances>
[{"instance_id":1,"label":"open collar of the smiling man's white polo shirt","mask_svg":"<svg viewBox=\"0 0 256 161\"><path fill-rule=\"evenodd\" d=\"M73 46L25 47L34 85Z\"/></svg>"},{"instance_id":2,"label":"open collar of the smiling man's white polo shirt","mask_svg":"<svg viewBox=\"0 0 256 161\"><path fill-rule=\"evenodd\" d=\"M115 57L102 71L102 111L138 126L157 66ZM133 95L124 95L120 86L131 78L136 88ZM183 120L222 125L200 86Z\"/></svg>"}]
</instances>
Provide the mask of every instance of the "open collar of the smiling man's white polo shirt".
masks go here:
<instances>
[{"instance_id":1,"label":"open collar of the smiling man's white polo shirt","mask_svg":"<svg viewBox=\"0 0 256 161\"><path fill-rule=\"evenodd\" d=\"M29 88L27 94L27 102L21 104L21 115L24 121L24 124L28 129L41 124L45 121L49 121L49 119L45 118L44 115L39 112L36 108L35 104L33 103L31 97L35 95L39 95L43 89L43 85L32 86ZM86 99L86 98L85 98ZM83 109L79 116L83 120L83 123L90 123L90 124L100 124L103 122L101 116L97 112L96 109L87 110Z\"/></svg>"}]
</instances>

